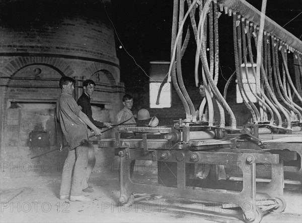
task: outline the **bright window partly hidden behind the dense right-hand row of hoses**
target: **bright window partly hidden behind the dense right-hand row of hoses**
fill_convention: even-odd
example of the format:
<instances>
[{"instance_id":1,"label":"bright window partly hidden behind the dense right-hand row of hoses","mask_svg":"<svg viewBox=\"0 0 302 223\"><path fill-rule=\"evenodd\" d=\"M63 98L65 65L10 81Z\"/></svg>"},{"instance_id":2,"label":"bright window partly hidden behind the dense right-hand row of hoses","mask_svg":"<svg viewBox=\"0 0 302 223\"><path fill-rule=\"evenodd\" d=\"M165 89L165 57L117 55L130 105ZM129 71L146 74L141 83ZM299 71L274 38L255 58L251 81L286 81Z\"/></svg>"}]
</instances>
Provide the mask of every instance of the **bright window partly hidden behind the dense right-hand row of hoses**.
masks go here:
<instances>
[{"instance_id":1,"label":"bright window partly hidden behind the dense right-hand row of hoses","mask_svg":"<svg viewBox=\"0 0 302 223\"><path fill-rule=\"evenodd\" d=\"M252 91L254 93L256 93L256 81L255 81L255 77L252 71L252 64L251 63L247 63L247 67L248 67L248 78L249 78L249 83L250 86L252 88L252 91L249 87L248 84L248 79L247 76L245 74L245 68L244 68L245 64L242 64L242 82L243 82L243 90L246 92L248 98L250 99L250 101L252 102L257 102L257 98L254 96L254 94L252 93ZM253 67L255 67L256 64L253 65ZM246 96L243 94L243 96L245 97L246 101L248 101L248 99L246 98ZM238 86L238 81L236 79L236 102L237 103L242 103L243 99L241 97L240 91L239 91L239 86Z\"/></svg>"}]
</instances>

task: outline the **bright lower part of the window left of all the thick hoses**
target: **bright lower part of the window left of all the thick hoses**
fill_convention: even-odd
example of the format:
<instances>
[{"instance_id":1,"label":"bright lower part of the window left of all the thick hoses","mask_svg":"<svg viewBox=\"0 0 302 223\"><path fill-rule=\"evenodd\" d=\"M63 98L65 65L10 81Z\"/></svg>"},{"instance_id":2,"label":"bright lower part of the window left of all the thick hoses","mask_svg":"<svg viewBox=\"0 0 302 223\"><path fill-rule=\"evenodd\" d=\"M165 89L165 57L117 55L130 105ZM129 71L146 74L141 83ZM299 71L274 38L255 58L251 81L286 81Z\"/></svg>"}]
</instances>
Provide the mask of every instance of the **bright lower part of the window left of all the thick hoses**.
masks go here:
<instances>
[{"instance_id":1,"label":"bright lower part of the window left of all the thick hoses","mask_svg":"<svg viewBox=\"0 0 302 223\"><path fill-rule=\"evenodd\" d=\"M171 82L167 82L164 84L160 95L160 100L159 100L160 104L156 104L160 86L161 86L161 82L149 83L150 108L171 107Z\"/></svg>"}]
</instances>

